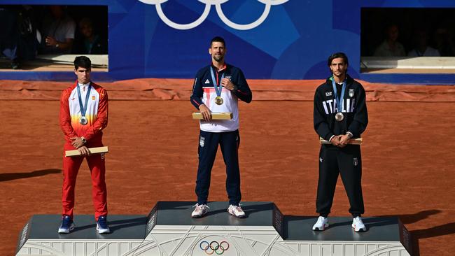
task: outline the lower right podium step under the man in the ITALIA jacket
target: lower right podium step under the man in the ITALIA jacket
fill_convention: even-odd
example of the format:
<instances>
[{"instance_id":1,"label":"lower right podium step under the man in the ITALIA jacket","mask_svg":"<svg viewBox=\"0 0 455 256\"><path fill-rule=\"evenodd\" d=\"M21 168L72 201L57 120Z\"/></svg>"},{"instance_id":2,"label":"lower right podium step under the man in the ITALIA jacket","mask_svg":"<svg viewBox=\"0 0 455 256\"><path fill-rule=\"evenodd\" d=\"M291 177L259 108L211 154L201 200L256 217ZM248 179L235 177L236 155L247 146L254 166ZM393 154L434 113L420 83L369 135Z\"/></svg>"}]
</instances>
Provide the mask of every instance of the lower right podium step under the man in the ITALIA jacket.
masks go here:
<instances>
[{"instance_id":1,"label":"lower right podium step under the man in the ITALIA jacket","mask_svg":"<svg viewBox=\"0 0 455 256\"><path fill-rule=\"evenodd\" d=\"M354 232L349 217L330 217L329 227L315 232L317 217L285 216L283 241L293 255L404 256L412 252L411 238L398 218L362 218L367 232Z\"/></svg>"}]
</instances>

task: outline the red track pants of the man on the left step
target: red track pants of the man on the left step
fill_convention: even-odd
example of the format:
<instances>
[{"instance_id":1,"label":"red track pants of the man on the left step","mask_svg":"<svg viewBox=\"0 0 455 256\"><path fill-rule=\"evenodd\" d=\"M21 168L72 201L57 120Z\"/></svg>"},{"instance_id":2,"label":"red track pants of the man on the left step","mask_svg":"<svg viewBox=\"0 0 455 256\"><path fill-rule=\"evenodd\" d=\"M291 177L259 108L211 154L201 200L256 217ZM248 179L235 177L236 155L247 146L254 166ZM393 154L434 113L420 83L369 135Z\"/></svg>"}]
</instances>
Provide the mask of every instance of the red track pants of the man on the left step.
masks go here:
<instances>
[{"instance_id":1,"label":"red track pants of the man on the left step","mask_svg":"<svg viewBox=\"0 0 455 256\"><path fill-rule=\"evenodd\" d=\"M102 145L90 145L90 147L101 147ZM64 145L64 150L74 150L73 146ZM92 199L94 206L94 218L107 215L107 190L105 180L106 166L104 154L90 155L87 158L88 167L92 176ZM74 188L80 164L84 157L63 157L63 190L62 206L63 215L73 218Z\"/></svg>"}]
</instances>

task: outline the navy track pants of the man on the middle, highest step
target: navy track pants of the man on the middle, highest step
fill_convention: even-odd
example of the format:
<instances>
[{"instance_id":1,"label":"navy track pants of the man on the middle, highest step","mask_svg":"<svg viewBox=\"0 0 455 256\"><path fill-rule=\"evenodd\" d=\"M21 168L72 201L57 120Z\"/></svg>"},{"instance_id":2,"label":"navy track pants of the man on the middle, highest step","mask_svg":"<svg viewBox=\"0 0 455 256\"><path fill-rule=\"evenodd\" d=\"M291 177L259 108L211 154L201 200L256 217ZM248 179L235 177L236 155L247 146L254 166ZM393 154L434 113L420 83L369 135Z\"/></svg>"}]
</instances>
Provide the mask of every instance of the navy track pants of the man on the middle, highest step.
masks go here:
<instances>
[{"instance_id":1,"label":"navy track pants of the man on the middle, highest step","mask_svg":"<svg viewBox=\"0 0 455 256\"><path fill-rule=\"evenodd\" d=\"M240 193L240 169L238 149L239 130L225 132L200 131L199 166L197 168L196 194L197 204L207 204L209 197L211 168L214 166L218 144L226 164L226 191L229 204L238 206Z\"/></svg>"}]
</instances>

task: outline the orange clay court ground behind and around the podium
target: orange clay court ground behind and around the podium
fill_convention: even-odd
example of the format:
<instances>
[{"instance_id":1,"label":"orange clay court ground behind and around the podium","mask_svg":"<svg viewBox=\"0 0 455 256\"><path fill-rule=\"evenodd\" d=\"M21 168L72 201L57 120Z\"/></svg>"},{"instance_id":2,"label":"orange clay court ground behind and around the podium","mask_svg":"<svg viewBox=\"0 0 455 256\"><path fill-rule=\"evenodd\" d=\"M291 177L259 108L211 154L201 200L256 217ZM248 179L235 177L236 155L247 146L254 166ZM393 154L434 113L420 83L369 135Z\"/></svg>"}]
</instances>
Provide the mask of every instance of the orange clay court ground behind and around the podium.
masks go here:
<instances>
[{"instance_id":1,"label":"orange clay court ground behind and around the podium","mask_svg":"<svg viewBox=\"0 0 455 256\"><path fill-rule=\"evenodd\" d=\"M319 83L250 81L253 102L239 104L244 201L274 201L285 215L316 215L319 145L311 100ZM31 215L61 212L58 99L69 84L0 81L0 255L14 255ZM109 213L146 215L156 201L195 200L199 127L190 118L192 81L100 84L111 99L104 132ZM419 249L415 255L453 255L454 87L364 85L365 216L398 215ZM93 213L90 191L85 162L75 214ZM209 200L227 201L221 152ZM332 215L347 216L348 208L339 180Z\"/></svg>"}]
</instances>

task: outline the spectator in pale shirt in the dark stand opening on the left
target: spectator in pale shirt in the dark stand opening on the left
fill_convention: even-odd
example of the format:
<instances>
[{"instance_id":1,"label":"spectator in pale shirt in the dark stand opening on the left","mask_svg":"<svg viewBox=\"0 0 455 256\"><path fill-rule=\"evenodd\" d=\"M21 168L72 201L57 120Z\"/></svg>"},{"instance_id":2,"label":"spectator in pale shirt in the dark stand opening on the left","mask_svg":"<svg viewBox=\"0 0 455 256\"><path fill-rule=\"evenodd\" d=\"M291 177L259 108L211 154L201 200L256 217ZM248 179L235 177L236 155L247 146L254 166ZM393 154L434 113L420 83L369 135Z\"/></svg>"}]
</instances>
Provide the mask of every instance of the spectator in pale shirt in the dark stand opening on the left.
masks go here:
<instances>
[{"instance_id":1,"label":"spectator in pale shirt in the dark stand opening on the left","mask_svg":"<svg viewBox=\"0 0 455 256\"><path fill-rule=\"evenodd\" d=\"M45 54L68 54L74 40L76 22L69 17L62 6L50 6L52 17L43 22Z\"/></svg>"}]
</instances>

